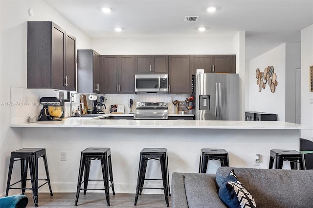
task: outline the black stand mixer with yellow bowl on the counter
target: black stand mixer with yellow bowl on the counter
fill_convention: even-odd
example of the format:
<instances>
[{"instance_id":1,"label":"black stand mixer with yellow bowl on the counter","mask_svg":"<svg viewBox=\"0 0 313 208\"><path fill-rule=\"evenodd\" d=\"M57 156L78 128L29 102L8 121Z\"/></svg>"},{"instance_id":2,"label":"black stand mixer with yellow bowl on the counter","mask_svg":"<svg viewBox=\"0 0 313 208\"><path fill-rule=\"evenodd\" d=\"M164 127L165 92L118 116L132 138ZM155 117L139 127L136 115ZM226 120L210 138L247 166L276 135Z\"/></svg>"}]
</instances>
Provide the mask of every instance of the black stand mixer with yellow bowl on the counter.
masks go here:
<instances>
[{"instance_id":1,"label":"black stand mixer with yellow bowl on the counter","mask_svg":"<svg viewBox=\"0 0 313 208\"><path fill-rule=\"evenodd\" d=\"M38 121L60 121L63 117L63 104L56 97L42 97L40 104L43 105Z\"/></svg>"}]
</instances>

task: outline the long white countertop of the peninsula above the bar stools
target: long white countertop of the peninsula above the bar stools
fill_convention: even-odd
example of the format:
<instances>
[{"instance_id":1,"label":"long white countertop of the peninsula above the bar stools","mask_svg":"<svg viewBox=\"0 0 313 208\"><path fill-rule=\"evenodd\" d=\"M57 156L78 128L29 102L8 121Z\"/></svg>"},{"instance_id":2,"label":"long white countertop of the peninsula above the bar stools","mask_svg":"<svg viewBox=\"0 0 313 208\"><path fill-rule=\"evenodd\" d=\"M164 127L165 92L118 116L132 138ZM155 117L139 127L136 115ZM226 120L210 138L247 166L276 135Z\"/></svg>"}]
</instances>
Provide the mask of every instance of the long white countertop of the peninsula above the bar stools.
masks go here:
<instances>
[{"instance_id":1,"label":"long white countertop of the peninsula above the bar stools","mask_svg":"<svg viewBox=\"0 0 313 208\"><path fill-rule=\"evenodd\" d=\"M114 116L115 115L118 114L114 114ZM123 115L125 116L127 114ZM103 117L105 116L110 116L110 114L104 114ZM312 126L304 126L281 121L107 120L99 119L99 117L67 118L63 121L38 121L37 123L20 123L11 124L10 126L74 128L313 129Z\"/></svg>"}]
</instances>

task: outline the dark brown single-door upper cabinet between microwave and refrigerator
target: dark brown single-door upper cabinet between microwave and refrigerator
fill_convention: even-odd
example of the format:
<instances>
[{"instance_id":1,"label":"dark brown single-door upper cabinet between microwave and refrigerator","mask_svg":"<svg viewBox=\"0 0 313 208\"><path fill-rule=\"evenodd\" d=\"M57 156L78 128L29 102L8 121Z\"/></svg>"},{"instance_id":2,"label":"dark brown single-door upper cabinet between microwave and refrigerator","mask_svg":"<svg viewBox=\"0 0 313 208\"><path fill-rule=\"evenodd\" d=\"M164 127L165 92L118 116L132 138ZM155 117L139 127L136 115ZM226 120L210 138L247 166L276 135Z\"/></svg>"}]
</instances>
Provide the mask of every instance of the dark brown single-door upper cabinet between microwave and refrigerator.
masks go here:
<instances>
[{"instance_id":1,"label":"dark brown single-door upper cabinet between microwave and refrigerator","mask_svg":"<svg viewBox=\"0 0 313 208\"><path fill-rule=\"evenodd\" d=\"M191 94L191 72L191 55L169 55L169 94Z\"/></svg>"}]
</instances>

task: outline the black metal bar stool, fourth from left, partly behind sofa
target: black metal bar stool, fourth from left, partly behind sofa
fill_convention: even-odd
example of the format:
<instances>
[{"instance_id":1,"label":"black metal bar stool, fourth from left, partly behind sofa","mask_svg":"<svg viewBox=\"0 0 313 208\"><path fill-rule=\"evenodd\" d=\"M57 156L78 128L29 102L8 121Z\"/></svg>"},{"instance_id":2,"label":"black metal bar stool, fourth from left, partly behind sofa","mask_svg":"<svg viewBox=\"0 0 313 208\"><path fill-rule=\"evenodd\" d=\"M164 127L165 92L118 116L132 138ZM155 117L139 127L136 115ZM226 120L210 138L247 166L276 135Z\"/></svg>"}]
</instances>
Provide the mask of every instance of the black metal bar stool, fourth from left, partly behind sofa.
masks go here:
<instances>
[{"instance_id":1,"label":"black metal bar stool, fourth from left, partly behind sofa","mask_svg":"<svg viewBox=\"0 0 313 208\"><path fill-rule=\"evenodd\" d=\"M199 173L206 173L209 160L221 161L221 166L229 166L228 152L225 149L201 149Z\"/></svg>"}]
</instances>

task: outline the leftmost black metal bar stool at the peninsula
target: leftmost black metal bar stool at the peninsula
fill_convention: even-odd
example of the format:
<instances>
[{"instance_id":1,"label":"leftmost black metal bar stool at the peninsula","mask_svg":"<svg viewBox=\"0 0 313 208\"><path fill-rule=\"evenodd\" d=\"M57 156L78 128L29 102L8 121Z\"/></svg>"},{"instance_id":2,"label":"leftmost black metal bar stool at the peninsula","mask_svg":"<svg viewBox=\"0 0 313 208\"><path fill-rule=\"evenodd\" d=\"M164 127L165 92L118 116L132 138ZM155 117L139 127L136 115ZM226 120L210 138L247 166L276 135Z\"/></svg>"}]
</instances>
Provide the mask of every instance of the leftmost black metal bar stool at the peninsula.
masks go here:
<instances>
[{"instance_id":1,"label":"leftmost black metal bar stool at the peninsula","mask_svg":"<svg viewBox=\"0 0 313 208\"><path fill-rule=\"evenodd\" d=\"M40 157L42 157L44 160L45 173L46 173L47 179L38 179L38 158ZM21 180L10 185L13 163L15 161L21 161ZM28 164L29 164L30 179L27 179ZM26 188L26 181L31 181L31 188ZM38 181L46 181L46 182L42 184L41 186L39 186ZM21 188L11 187L20 182L22 185ZM5 196L8 196L9 189L22 189L22 194L25 193L26 189L32 190L35 207L38 207L38 188L44 186L45 184L48 184L50 195L53 196L51 185L50 185L50 177L49 177L48 164L47 164L47 159L46 159L46 154L45 154L45 148L23 148L23 149L19 149L19 150L11 152L8 182L6 185Z\"/></svg>"}]
</instances>

